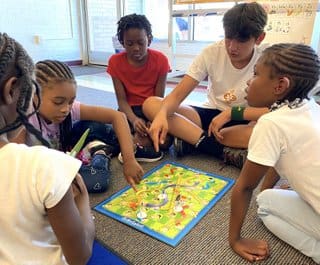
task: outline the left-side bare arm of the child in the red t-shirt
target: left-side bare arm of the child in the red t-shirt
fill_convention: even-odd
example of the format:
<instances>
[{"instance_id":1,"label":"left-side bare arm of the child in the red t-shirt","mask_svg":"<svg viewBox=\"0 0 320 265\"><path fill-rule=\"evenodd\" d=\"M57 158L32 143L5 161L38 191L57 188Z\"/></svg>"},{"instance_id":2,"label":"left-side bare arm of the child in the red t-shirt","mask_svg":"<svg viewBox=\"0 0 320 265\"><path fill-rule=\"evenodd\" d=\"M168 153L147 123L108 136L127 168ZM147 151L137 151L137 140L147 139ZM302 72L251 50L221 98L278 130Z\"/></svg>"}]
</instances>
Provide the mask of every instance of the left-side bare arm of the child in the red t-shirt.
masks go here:
<instances>
[{"instance_id":1,"label":"left-side bare arm of the child in the red t-shirt","mask_svg":"<svg viewBox=\"0 0 320 265\"><path fill-rule=\"evenodd\" d=\"M141 135L146 135L147 133L146 123L143 119L137 117L132 111L130 105L128 104L126 92L122 82L115 77L112 77L112 81L113 81L114 90L117 96L119 110L126 114L127 119L133 125L134 130L137 133Z\"/></svg>"}]
</instances>

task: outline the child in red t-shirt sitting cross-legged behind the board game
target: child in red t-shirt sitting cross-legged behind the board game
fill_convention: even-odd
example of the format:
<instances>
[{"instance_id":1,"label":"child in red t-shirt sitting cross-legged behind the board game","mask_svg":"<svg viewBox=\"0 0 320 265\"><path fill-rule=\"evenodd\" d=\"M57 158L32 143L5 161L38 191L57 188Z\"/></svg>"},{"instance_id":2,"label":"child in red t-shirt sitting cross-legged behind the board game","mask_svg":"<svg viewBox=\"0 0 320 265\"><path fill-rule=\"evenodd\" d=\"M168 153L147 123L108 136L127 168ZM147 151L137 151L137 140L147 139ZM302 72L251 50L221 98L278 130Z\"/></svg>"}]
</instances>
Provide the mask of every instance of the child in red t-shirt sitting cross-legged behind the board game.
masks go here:
<instances>
[{"instance_id":1,"label":"child in red t-shirt sitting cross-legged behind the board game","mask_svg":"<svg viewBox=\"0 0 320 265\"><path fill-rule=\"evenodd\" d=\"M136 155L136 159L157 161L163 154L152 146L142 104L150 96L163 97L169 62L161 52L148 48L153 36L151 24L144 15L122 17L118 21L117 36L125 51L111 56L107 72L112 77L119 110L127 116L137 148L146 150ZM119 160L122 160L121 153Z\"/></svg>"}]
</instances>

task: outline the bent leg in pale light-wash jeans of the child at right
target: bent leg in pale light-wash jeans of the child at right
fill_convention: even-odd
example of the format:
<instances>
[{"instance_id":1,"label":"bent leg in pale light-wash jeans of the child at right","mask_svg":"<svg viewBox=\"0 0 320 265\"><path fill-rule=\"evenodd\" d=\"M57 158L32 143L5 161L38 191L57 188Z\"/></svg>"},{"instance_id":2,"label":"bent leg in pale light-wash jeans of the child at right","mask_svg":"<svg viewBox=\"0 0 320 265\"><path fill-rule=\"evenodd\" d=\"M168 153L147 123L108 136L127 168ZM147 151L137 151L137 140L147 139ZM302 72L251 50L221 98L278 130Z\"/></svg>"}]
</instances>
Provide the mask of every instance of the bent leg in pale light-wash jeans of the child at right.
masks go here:
<instances>
[{"instance_id":1,"label":"bent leg in pale light-wash jeans of the child at right","mask_svg":"<svg viewBox=\"0 0 320 265\"><path fill-rule=\"evenodd\" d=\"M292 190L268 189L257 197L264 225L292 247L320 262L320 215Z\"/></svg>"}]
</instances>

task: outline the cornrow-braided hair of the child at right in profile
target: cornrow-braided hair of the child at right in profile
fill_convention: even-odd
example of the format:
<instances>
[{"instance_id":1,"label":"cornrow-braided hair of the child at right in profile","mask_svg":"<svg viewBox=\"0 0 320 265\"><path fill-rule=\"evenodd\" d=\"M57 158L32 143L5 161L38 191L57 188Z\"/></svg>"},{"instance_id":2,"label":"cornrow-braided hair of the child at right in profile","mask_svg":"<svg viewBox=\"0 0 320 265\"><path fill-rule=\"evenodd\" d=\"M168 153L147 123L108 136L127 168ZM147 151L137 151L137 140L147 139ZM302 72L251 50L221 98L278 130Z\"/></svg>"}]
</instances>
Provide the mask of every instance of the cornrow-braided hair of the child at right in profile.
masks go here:
<instances>
[{"instance_id":1,"label":"cornrow-braided hair of the child at right in profile","mask_svg":"<svg viewBox=\"0 0 320 265\"><path fill-rule=\"evenodd\" d=\"M319 57L304 44L280 43L264 50L259 62L271 68L270 78L285 76L290 80L290 91L281 101L307 98L320 75Z\"/></svg>"}]
</instances>

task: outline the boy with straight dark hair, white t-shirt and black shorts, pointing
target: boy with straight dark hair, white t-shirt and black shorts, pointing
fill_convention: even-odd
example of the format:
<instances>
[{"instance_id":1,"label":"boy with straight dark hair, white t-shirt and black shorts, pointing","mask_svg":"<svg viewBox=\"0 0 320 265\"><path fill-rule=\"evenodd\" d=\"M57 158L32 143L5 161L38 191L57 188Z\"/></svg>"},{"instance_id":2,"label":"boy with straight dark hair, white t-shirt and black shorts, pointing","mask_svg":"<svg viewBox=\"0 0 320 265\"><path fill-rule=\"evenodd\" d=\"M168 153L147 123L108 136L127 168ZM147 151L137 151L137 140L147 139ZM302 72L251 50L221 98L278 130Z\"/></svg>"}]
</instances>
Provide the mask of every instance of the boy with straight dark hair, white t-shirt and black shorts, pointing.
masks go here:
<instances>
[{"instance_id":1,"label":"boy with straight dark hair, white t-shirt and black shorts, pointing","mask_svg":"<svg viewBox=\"0 0 320 265\"><path fill-rule=\"evenodd\" d=\"M265 37L266 22L267 14L261 5L235 5L223 17L225 39L205 48L168 96L164 99L151 97L145 101L143 111L153 120L149 133L156 150L167 132L177 137L174 146L178 156L196 148L220 158L224 145L247 147L252 130L247 121L225 124L244 125L241 130L225 135L221 143L211 136L210 126L212 119L226 108L246 105L246 81L264 48L259 45ZM180 105L206 77L208 95L202 107Z\"/></svg>"}]
</instances>

